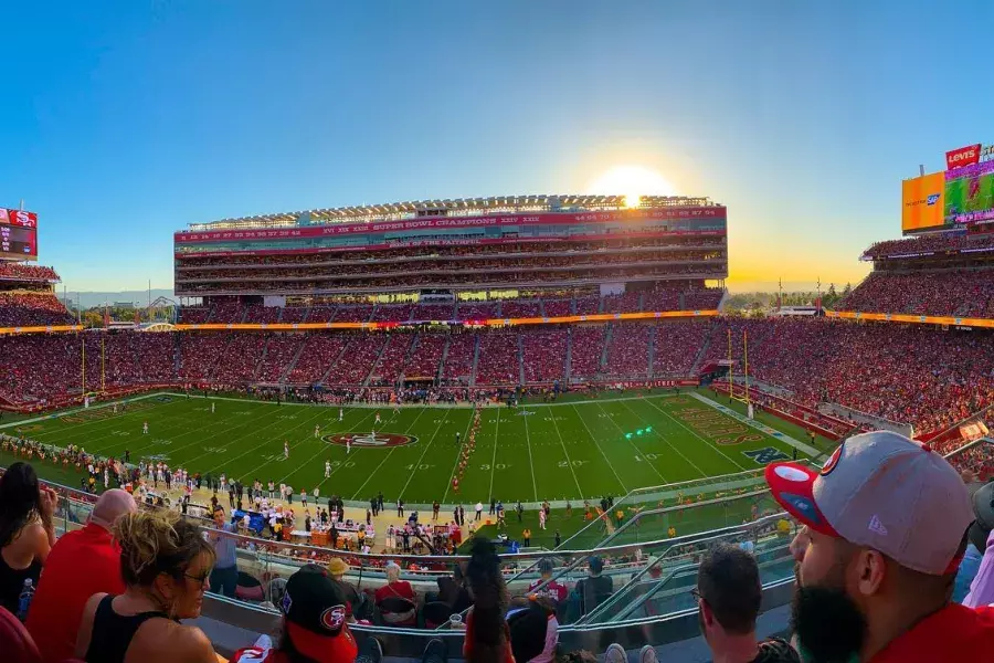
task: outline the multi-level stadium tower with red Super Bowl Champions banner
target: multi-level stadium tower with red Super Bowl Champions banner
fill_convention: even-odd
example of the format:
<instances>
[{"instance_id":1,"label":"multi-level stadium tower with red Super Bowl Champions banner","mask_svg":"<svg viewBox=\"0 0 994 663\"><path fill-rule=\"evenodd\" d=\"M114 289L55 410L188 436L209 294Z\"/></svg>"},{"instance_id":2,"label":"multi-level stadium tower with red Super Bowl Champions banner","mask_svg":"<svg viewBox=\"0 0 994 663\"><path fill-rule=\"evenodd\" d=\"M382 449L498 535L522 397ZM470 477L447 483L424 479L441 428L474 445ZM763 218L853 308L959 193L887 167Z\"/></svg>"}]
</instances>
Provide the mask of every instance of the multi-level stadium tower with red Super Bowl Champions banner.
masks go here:
<instances>
[{"instance_id":1,"label":"multi-level stadium tower with red Super Bowl Champions banner","mask_svg":"<svg viewBox=\"0 0 994 663\"><path fill-rule=\"evenodd\" d=\"M400 202L197 223L173 239L177 296L207 304L604 295L728 276L726 208L706 198Z\"/></svg>"}]
</instances>

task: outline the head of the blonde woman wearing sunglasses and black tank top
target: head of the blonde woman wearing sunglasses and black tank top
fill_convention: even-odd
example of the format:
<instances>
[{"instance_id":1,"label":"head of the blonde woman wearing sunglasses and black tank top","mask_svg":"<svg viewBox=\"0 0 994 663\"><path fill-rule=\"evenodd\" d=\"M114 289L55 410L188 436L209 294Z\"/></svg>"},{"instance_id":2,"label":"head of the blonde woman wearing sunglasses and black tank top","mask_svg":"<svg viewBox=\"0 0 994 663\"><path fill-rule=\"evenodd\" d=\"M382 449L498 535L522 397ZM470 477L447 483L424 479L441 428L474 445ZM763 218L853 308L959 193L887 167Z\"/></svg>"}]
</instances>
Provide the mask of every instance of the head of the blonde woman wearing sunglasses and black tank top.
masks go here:
<instances>
[{"instance_id":1,"label":"head of the blonde woman wearing sunglasses and black tank top","mask_svg":"<svg viewBox=\"0 0 994 663\"><path fill-rule=\"evenodd\" d=\"M176 512L133 512L117 519L120 573L129 589L159 603L172 619L200 614L214 549Z\"/></svg>"}]
</instances>

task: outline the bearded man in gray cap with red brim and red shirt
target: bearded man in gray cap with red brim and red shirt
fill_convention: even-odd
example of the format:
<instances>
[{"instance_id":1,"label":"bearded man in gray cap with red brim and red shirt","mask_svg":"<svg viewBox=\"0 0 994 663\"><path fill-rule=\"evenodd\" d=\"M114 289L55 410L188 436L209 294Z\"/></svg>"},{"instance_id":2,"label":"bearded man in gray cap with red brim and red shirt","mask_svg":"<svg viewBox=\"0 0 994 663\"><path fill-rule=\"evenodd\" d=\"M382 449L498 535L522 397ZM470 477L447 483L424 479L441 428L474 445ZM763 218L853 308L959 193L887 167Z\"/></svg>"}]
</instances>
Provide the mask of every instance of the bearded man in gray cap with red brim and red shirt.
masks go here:
<instances>
[{"instance_id":1,"label":"bearded man in gray cap with red brim and red shirt","mask_svg":"<svg viewBox=\"0 0 994 663\"><path fill-rule=\"evenodd\" d=\"M897 433L854 435L821 472L766 467L794 539L793 627L804 661L994 660L994 608L950 602L974 519L956 471Z\"/></svg>"}]
</instances>

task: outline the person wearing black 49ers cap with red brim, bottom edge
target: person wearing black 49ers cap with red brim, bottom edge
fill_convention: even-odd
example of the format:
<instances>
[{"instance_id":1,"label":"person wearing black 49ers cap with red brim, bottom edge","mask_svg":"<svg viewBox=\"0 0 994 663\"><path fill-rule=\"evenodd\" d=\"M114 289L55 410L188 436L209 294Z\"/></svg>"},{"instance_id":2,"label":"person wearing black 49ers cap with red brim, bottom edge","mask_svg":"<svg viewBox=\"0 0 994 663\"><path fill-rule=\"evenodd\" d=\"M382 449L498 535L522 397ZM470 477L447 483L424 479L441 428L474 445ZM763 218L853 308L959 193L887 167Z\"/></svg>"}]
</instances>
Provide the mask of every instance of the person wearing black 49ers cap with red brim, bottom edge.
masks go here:
<instances>
[{"instance_id":1,"label":"person wearing black 49ers cap with red brim, bottom edge","mask_svg":"<svg viewBox=\"0 0 994 663\"><path fill-rule=\"evenodd\" d=\"M315 663L352 663L359 648L346 623L347 603L325 569L305 566L286 581L279 603L284 617L278 646L239 650L231 663L290 663L302 656ZM373 638L368 640L376 642ZM377 654L372 659L378 661L382 652Z\"/></svg>"}]
</instances>

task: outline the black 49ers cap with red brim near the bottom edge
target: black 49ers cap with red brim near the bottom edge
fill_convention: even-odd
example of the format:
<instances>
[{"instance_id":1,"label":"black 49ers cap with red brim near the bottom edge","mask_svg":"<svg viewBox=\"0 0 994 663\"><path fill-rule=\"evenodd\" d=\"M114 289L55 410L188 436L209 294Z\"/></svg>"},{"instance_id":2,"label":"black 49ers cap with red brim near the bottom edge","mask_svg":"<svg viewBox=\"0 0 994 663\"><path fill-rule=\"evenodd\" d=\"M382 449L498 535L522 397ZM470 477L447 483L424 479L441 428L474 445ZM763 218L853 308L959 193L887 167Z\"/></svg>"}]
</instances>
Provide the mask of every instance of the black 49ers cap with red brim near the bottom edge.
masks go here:
<instances>
[{"instance_id":1,"label":"black 49ers cap with red brim near the bottom edge","mask_svg":"<svg viewBox=\"0 0 994 663\"><path fill-rule=\"evenodd\" d=\"M279 607L297 651L318 663L351 663L359 650L346 625L347 602L338 585L316 565L290 576Z\"/></svg>"}]
</instances>

